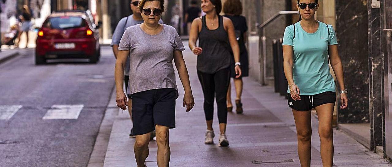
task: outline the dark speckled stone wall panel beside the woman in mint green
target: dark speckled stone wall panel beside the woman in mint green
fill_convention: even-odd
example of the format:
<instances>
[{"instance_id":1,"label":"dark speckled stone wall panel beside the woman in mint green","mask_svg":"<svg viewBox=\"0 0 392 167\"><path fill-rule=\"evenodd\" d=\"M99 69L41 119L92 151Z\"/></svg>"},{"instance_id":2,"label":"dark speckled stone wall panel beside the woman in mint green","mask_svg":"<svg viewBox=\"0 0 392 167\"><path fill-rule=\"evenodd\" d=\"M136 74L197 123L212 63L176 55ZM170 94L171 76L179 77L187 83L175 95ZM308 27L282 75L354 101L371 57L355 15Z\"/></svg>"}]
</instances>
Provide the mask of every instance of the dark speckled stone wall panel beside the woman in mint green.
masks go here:
<instances>
[{"instance_id":1,"label":"dark speckled stone wall panel beside the woman in mint green","mask_svg":"<svg viewBox=\"0 0 392 167\"><path fill-rule=\"evenodd\" d=\"M336 1L336 36L342 60L348 108L338 111L339 123L369 122L369 61L367 0ZM338 104L339 106L340 104Z\"/></svg>"}]
</instances>

